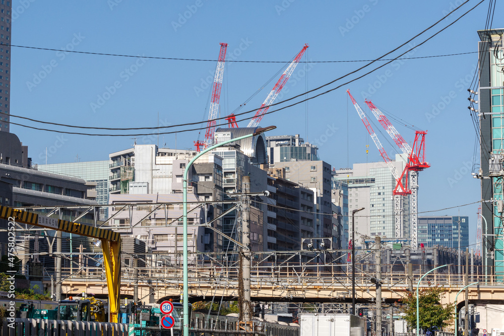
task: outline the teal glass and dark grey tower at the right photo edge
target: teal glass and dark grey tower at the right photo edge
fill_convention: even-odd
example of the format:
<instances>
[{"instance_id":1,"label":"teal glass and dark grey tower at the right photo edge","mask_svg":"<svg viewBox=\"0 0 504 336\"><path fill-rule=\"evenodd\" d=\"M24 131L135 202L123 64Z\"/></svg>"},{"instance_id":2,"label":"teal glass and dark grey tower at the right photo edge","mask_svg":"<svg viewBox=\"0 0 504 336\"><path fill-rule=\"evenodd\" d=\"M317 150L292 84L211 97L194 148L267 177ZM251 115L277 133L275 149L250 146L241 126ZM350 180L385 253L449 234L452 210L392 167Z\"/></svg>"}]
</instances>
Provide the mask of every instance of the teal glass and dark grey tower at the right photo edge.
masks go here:
<instances>
[{"instance_id":1,"label":"teal glass and dark grey tower at the right photo edge","mask_svg":"<svg viewBox=\"0 0 504 336\"><path fill-rule=\"evenodd\" d=\"M504 29L479 30L479 88L472 95L479 102L481 205L483 216L482 256L485 273L491 269L502 280L504 278L504 247L495 239L502 234L502 166L504 149ZM476 114L478 115L478 114ZM495 203L488 203L495 200ZM494 236L495 235L495 236ZM492 258L493 254L493 258Z\"/></svg>"}]
</instances>

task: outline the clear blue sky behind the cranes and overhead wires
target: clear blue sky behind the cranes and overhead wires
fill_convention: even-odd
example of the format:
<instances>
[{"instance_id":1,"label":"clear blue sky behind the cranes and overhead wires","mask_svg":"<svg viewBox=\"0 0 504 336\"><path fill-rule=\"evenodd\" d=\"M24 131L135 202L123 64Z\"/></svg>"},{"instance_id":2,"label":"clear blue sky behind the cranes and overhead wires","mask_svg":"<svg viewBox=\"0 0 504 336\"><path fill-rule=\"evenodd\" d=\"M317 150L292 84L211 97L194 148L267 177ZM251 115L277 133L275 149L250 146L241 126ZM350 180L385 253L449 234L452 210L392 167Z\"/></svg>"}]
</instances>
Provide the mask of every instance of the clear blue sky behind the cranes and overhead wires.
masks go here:
<instances>
[{"instance_id":1,"label":"clear blue sky behind the cranes and overhead wires","mask_svg":"<svg viewBox=\"0 0 504 336\"><path fill-rule=\"evenodd\" d=\"M470 0L441 25L386 58L419 45L478 2ZM11 113L99 127L152 127L202 121L208 117L209 83L215 61L142 59L61 50L215 60L219 43L226 42L228 59L289 61L308 43L310 47L301 61L353 61L300 63L278 102L358 69L365 62L355 60L374 59L398 47L461 3L16 0L12 44L59 51L12 47ZM401 118L403 121L390 119L406 141L412 143L414 131L405 124L428 130L426 159L431 168L419 176L420 212L478 201L479 180L472 178L471 171L479 165L479 154L474 161L477 139L467 109L466 89L477 64L476 31L484 29L487 11L488 1L406 57L473 53L396 61L307 103L266 115L261 125L278 127L268 135L298 133L305 141L318 144L321 158L336 169L352 163L381 161L347 97L345 90L350 89L363 108L367 97L386 114ZM497 4L492 28L504 27L498 15L501 12L502 6ZM374 69L377 64L383 62L366 69ZM226 63L220 116L234 111L264 86L240 112L259 107L278 75L269 83L268 80L284 65ZM362 74L363 71L358 72L348 79ZM344 82L337 81L316 93ZM372 118L369 115L374 122ZM11 120L44 127L15 117ZM393 157L397 148L379 126L374 122L374 130ZM53 125L44 128L63 129ZM11 126L11 132L29 146L29 156L39 164L46 159L47 163L75 162L77 157L80 161L107 160L109 153L130 148L134 143L133 137L64 135L17 125ZM159 135L159 140L157 136L137 137L136 141L193 149L198 137L203 139L204 131L200 136L198 131L191 131L176 137ZM459 211L461 216L470 216L473 243L477 205L437 214L458 215Z\"/></svg>"}]
</instances>

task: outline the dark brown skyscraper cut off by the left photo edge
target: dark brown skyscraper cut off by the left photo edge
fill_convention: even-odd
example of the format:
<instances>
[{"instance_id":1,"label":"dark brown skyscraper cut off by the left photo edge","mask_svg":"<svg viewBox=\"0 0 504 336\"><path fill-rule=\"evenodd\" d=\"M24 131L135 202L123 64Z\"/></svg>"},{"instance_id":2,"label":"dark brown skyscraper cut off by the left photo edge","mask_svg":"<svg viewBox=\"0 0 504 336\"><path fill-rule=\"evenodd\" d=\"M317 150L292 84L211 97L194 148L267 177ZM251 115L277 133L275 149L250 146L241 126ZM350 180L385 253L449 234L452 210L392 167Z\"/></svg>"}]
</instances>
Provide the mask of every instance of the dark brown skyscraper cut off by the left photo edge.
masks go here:
<instances>
[{"instance_id":1,"label":"dark brown skyscraper cut off by the left photo edge","mask_svg":"<svg viewBox=\"0 0 504 336\"><path fill-rule=\"evenodd\" d=\"M10 131L12 1L0 0L0 131Z\"/></svg>"}]
</instances>

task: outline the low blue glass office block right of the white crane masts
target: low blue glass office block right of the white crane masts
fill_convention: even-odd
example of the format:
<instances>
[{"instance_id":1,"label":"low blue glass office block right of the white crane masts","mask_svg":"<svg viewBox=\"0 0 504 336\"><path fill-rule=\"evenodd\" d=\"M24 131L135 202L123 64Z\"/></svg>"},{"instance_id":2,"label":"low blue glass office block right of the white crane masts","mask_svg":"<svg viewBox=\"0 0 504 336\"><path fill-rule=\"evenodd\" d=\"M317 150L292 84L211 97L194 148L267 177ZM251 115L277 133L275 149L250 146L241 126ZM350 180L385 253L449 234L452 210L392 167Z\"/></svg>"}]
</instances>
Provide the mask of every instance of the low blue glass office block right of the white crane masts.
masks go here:
<instances>
[{"instance_id":1,"label":"low blue glass office block right of the white crane masts","mask_svg":"<svg viewBox=\"0 0 504 336\"><path fill-rule=\"evenodd\" d=\"M469 217L422 216L418 217L418 244L465 250L469 246Z\"/></svg>"}]
</instances>

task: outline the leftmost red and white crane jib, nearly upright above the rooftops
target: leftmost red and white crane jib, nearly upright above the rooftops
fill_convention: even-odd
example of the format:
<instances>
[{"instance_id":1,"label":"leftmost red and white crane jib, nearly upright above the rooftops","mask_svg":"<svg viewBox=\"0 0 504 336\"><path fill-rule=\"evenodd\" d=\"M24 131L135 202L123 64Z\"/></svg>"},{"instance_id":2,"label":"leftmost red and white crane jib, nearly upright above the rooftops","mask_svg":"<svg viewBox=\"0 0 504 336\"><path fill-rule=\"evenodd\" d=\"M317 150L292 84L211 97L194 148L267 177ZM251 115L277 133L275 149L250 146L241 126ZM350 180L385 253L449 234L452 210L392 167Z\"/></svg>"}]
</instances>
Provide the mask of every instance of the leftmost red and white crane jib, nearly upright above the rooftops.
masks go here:
<instances>
[{"instance_id":1,"label":"leftmost red and white crane jib, nearly upright above the rooftops","mask_svg":"<svg viewBox=\"0 0 504 336\"><path fill-rule=\"evenodd\" d=\"M196 151L201 151L201 147L210 147L214 142L215 118L219 111L220 92L222 87L222 78L224 77L224 61L226 59L227 43L220 43L219 58L217 60L217 68L215 70L214 86L212 88L212 99L210 100L210 110L208 112L207 130L205 132L205 141L195 141Z\"/></svg>"}]
</instances>

